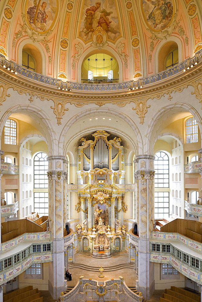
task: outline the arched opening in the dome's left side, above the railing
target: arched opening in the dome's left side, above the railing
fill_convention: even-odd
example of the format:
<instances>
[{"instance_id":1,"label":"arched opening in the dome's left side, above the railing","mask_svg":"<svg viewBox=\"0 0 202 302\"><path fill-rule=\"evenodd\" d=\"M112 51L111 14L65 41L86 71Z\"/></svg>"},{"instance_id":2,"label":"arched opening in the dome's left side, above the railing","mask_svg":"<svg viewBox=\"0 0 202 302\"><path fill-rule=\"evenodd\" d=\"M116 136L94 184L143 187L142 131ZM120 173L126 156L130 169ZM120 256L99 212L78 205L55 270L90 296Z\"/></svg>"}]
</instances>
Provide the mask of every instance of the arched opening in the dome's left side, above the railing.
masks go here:
<instances>
[{"instance_id":1,"label":"arched opening in the dome's left side, above the railing","mask_svg":"<svg viewBox=\"0 0 202 302\"><path fill-rule=\"evenodd\" d=\"M22 49L22 66L31 71L41 73L41 64L42 59L39 50L31 44L24 45Z\"/></svg>"}]
</instances>

